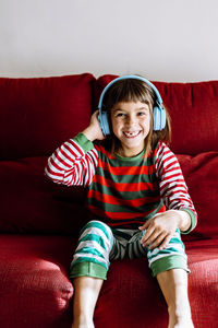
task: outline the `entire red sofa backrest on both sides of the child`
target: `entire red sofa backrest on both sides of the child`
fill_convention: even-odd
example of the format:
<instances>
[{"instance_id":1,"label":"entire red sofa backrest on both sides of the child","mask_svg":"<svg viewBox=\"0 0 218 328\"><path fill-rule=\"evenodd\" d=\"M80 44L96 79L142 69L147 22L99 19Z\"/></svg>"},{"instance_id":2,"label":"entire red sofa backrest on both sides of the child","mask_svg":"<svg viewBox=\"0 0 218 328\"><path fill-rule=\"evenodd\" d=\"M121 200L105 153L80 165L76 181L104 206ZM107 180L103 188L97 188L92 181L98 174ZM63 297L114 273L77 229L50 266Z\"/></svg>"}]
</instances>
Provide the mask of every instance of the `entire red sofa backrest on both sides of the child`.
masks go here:
<instances>
[{"instance_id":1,"label":"entire red sofa backrest on both sides of the child","mask_svg":"<svg viewBox=\"0 0 218 328\"><path fill-rule=\"evenodd\" d=\"M0 232L77 234L85 190L44 176L47 157L89 122L116 75L0 79ZM218 81L154 82L172 118L177 154L198 225L187 238L218 237Z\"/></svg>"}]
</instances>

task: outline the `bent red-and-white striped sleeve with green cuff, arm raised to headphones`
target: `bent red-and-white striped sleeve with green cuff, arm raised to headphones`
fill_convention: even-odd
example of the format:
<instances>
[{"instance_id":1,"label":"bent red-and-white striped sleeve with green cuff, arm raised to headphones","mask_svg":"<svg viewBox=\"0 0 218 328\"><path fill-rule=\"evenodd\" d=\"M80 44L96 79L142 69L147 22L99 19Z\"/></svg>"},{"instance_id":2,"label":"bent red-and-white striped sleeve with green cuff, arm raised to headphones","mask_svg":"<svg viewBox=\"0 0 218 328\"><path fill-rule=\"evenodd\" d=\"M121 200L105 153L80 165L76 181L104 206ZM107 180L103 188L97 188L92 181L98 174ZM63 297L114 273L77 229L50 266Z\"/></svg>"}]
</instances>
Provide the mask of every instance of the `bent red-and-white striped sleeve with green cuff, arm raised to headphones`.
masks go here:
<instances>
[{"instance_id":1,"label":"bent red-and-white striped sleeve with green cuff, arm raised to headphones","mask_svg":"<svg viewBox=\"0 0 218 328\"><path fill-rule=\"evenodd\" d=\"M90 184L98 162L94 144L83 134L68 140L48 159L45 174L55 183L66 186Z\"/></svg>"}]
</instances>

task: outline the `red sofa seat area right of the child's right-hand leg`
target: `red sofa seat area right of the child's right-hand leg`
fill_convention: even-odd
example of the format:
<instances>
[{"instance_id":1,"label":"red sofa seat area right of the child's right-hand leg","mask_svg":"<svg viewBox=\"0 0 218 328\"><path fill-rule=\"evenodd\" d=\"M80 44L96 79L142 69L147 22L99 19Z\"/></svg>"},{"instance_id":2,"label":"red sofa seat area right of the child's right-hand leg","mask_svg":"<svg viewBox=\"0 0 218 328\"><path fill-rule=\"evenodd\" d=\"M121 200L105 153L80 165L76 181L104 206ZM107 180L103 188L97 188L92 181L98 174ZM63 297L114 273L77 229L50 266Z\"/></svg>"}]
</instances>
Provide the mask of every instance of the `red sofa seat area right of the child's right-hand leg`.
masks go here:
<instances>
[{"instance_id":1,"label":"red sofa seat area right of the child's right-hand leg","mask_svg":"<svg viewBox=\"0 0 218 328\"><path fill-rule=\"evenodd\" d=\"M195 327L218 327L218 239L186 243L189 296Z\"/></svg>"}]
</instances>

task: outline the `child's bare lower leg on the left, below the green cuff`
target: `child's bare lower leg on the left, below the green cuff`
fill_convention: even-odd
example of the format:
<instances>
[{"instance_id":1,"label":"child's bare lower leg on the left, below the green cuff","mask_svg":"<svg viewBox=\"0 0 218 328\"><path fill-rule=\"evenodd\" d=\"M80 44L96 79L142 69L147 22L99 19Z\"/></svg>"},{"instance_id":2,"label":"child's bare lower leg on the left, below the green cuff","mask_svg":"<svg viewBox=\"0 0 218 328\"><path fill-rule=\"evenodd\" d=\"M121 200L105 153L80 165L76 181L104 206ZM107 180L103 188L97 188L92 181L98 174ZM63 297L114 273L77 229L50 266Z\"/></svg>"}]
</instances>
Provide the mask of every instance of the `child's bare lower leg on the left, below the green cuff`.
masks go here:
<instances>
[{"instance_id":1,"label":"child's bare lower leg on the left, below the green cuff","mask_svg":"<svg viewBox=\"0 0 218 328\"><path fill-rule=\"evenodd\" d=\"M74 279L72 328L94 328L93 316L104 280L92 277Z\"/></svg>"}]
</instances>

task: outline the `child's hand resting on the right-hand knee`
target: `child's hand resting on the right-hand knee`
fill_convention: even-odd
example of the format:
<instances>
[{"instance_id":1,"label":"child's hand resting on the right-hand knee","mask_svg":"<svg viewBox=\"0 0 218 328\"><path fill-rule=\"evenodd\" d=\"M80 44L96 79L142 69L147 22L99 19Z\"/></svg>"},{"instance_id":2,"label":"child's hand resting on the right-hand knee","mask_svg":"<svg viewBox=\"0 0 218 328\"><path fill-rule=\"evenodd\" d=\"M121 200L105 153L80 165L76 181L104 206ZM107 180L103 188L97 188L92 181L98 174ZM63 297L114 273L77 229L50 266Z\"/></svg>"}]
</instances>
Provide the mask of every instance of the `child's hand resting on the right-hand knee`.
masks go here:
<instances>
[{"instance_id":1,"label":"child's hand resting on the right-hand knee","mask_svg":"<svg viewBox=\"0 0 218 328\"><path fill-rule=\"evenodd\" d=\"M175 230L180 227L181 220L181 211L177 210L169 210L156 214L153 219L140 226L140 230L146 230L141 239L141 244L150 249L156 247L164 249L169 244Z\"/></svg>"}]
</instances>

